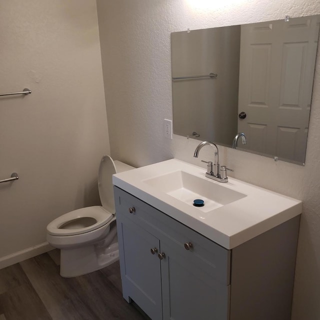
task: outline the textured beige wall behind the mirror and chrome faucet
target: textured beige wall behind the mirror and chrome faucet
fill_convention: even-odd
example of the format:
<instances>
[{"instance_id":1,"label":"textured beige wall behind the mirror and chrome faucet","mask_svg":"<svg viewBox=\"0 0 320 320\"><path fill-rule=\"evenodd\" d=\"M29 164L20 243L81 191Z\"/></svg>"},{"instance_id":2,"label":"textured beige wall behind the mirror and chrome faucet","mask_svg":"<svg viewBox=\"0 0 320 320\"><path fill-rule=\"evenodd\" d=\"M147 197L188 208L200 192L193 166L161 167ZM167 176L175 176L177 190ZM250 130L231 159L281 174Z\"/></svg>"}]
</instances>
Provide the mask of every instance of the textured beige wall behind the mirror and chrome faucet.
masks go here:
<instances>
[{"instance_id":1,"label":"textured beige wall behind the mirror and chrome faucet","mask_svg":"<svg viewBox=\"0 0 320 320\"><path fill-rule=\"evenodd\" d=\"M172 116L170 32L320 13L318 0L97 0L97 7L111 154L135 166L173 156L203 165L192 158L198 141L163 135L163 118ZM220 148L234 177L303 200L293 320L320 316L319 120L318 56L305 167Z\"/></svg>"}]
</instances>

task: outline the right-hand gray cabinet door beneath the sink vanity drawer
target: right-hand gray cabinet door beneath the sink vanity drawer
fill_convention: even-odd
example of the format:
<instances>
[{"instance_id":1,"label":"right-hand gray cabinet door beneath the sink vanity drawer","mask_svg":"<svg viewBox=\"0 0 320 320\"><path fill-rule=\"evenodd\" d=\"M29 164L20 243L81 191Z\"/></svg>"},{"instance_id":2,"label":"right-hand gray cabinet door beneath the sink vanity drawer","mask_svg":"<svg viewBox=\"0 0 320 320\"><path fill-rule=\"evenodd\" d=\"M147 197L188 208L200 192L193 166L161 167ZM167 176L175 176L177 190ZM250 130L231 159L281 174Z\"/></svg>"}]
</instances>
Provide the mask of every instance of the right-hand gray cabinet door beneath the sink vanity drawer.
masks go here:
<instances>
[{"instance_id":1,"label":"right-hand gray cabinet door beneath the sink vanity drawer","mask_svg":"<svg viewBox=\"0 0 320 320\"><path fill-rule=\"evenodd\" d=\"M230 286L203 273L174 247L161 242L163 320L227 320Z\"/></svg>"}]
</instances>

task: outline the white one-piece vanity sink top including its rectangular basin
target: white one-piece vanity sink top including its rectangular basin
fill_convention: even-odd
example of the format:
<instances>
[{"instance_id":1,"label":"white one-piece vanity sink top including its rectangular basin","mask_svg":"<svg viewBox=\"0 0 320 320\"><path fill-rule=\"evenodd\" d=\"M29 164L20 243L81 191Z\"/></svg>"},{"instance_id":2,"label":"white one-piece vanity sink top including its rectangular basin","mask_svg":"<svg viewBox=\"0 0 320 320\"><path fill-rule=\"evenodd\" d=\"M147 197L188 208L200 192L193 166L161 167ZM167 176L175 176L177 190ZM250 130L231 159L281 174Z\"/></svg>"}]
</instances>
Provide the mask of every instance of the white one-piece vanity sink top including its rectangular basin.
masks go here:
<instances>
[{"instance_id":1,"label":"white one-piece vanity sink top including its rectangular basin","mask_svg":"<svg viewBox=\"0 0 320 320\"><path fill-rule=\"evenodd\" d=\"M231 249L301 213L301 201L170 159L113 175L113 184L221 246ZM204 206L193 206L194 199ZM131 204L128 203L128 207Z\"/></svg>"}]
</instances>

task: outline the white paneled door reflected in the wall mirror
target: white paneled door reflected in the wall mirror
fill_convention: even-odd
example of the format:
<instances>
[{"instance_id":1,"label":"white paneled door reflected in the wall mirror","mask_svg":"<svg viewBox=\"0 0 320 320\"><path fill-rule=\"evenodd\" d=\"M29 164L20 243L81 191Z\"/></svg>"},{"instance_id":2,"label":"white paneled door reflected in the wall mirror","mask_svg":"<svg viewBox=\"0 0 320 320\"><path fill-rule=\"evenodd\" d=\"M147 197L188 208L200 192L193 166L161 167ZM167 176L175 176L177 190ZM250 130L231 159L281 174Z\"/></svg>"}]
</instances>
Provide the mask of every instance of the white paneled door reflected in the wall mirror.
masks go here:
<instances>
[{"instance_id":1,"label":"white paneled door reflected in the wall mirror","mask_svg":"<svg viewBox=\"0 0 320 320\"><path fill-rule=\"evenodd\" d=\"M316 16L241 26L238 148L304 162L318 29Z\"/></svg>"}]
</instances>

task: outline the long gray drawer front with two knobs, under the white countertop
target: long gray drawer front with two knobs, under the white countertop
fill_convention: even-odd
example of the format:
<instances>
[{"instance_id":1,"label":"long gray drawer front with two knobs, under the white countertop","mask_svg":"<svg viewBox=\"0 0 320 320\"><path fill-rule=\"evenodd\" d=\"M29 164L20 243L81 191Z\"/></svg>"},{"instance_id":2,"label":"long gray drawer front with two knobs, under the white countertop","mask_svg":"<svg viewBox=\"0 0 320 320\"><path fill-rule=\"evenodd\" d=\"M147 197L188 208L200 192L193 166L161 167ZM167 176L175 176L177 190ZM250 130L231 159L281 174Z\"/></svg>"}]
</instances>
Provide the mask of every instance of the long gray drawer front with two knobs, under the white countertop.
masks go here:
<instances>
[{"instance_id":1,"label":"long gray drawer front with two knobs, under the white countertop","mask_svg":"<svg viewBox=\"0 0 320 320\"><path fill-rule=\"evenodd\" d=\"M114 187L117 218L125 216L174 248L197 268L221 284L230 283L230 250L204 237L133 195ZM134 208L134 209L133 209Z\"/></svg>"}]
</instances>

